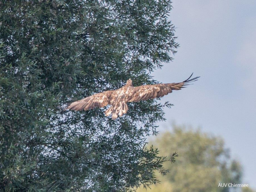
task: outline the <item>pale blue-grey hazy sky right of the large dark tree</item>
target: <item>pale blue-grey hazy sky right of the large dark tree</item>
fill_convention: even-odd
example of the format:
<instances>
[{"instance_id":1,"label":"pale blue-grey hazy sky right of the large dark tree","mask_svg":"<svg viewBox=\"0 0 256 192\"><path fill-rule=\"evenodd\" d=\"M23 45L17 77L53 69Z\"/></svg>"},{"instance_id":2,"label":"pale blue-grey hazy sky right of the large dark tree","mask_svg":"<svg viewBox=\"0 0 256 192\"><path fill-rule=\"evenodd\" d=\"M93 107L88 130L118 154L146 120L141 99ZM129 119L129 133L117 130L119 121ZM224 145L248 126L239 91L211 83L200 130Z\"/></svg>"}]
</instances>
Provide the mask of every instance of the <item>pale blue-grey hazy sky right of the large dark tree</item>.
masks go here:
<instances>
[{"instance_id":1,"label":"pale blue-grey hazy sky right of the large dark tree","mask_svg":"<svg viewBox=\"0 0 256 192\"><path fill-rule=\"evenodd\" d=\"M170 19L180 48L171 63L153 73L163 83L201 78L161 101L167 122L201 127L224 138L244 168L244 183L256 189L256 1L173 0ZM161 150L161 149L160 149Z\"/></svg>"}]
</instances>

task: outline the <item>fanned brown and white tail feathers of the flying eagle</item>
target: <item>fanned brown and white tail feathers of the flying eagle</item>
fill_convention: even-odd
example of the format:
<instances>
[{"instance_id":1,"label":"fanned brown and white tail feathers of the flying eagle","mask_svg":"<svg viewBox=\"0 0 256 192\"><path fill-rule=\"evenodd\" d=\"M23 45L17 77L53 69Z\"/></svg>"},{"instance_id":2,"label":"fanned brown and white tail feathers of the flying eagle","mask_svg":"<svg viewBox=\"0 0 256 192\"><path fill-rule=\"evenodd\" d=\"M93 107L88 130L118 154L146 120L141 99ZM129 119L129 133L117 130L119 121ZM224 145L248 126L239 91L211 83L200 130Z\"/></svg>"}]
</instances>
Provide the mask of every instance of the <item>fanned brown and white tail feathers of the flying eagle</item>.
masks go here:
<instances>
[{"instance_id":1,"label":"fanned brown and white tail feathers of the flying eagle","mask_svg":"<svg viewBox=\"0 0 256 192\"><path fill-rule=\"evenodd\" d=\"M115 120L117 117L121 117L123 114L127 113L128 105L125 102L115 103L110 106L104 113L105 116L109 116L112 113L112 119Z\"/></svg>"}]
</instances>

